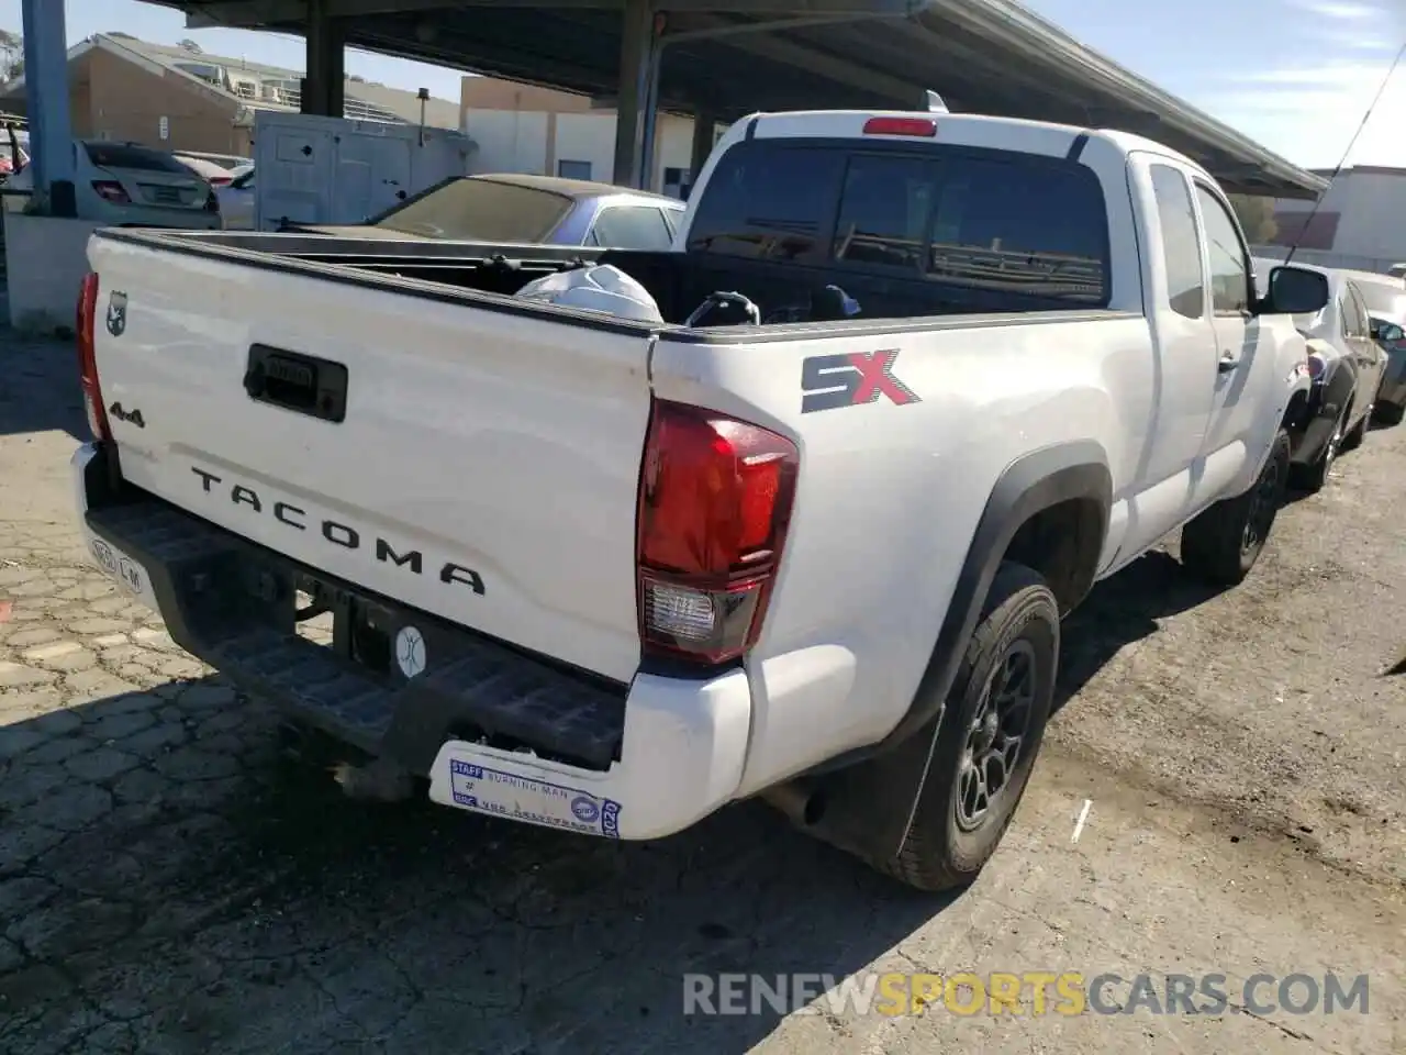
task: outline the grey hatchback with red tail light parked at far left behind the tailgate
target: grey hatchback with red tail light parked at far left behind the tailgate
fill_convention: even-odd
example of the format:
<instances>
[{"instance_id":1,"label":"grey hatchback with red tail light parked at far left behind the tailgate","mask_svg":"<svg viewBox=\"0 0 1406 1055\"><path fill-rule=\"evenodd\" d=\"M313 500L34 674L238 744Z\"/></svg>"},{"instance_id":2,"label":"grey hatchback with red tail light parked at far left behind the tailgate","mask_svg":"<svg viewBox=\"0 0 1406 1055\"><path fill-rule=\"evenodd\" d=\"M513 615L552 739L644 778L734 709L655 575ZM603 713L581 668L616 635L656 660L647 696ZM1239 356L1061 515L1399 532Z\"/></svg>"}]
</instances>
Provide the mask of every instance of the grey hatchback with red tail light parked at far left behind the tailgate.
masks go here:
<instances>
[{"instance_id":1,"label":"grey hatchback with red tail light parked at far left behind the tailgate","mask_svg":"<svg viewBox=\"0 0 1406 1055\"><path fill-rule=\"evenodd\" d=\"M73 166L80 219L112 226L219 228L214 188L166 151L79 139ZM32 190L34 167L17 172L6 187Z\"/></svg>"}]
</instances>

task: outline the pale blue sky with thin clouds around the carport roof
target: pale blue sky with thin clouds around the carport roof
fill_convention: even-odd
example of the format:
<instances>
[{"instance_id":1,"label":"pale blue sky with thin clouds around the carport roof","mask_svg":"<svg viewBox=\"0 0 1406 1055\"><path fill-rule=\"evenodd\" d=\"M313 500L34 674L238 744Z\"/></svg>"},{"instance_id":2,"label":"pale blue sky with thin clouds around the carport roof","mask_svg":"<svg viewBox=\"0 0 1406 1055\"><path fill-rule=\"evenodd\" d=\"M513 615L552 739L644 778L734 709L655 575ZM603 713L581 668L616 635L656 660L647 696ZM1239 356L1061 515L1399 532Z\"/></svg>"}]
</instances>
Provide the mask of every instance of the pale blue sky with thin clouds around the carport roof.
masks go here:
<instances>
[{"instance_id":1,"label":"pale blue sky with thin clouds around the carport roof","mask_svg":"<svg viewBox=\"0 0 1406 1055\"><path fill-rule=\"evenodd\" d=\"M1333 167L1406 44L1400 0L1025 0L1083 44L1308 167ZM1136 10L1135 10L1136 8ZM136 0L67 0L70 44L121 30L156 44L194 39L214 55L302 69L298 37L187 30L184 15ZM20 0L0 0L20 31ZM457 100L460 73L349 49L347 73ZM1406 62L1348 165L1406 167Z\"/></svg>"}]
</instances>

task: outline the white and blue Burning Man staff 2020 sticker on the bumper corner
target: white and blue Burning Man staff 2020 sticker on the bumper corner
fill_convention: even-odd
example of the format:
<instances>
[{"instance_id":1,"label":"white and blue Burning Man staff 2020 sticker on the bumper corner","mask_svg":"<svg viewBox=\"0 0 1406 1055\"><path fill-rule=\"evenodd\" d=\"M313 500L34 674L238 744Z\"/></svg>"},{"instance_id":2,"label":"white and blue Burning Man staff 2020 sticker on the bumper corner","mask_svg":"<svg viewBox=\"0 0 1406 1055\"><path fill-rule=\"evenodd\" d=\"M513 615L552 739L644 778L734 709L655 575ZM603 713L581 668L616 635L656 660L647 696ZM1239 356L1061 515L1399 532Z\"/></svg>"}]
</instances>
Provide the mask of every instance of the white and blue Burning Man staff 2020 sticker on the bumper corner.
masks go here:
<instances>
[{"instance_id":1,"label":"white and blue Burning Man staff 2020 sticker on the bumper corner","mask_svg":"<svg viewBox=\"0 0 1406 1055\"><path fill-rule=\"evenodd\" d=\"M585 836L620 838L620 803L612 799L457 758L450 760L449 778L454 805L463 809Z\"/></svg>"}]
</instances>

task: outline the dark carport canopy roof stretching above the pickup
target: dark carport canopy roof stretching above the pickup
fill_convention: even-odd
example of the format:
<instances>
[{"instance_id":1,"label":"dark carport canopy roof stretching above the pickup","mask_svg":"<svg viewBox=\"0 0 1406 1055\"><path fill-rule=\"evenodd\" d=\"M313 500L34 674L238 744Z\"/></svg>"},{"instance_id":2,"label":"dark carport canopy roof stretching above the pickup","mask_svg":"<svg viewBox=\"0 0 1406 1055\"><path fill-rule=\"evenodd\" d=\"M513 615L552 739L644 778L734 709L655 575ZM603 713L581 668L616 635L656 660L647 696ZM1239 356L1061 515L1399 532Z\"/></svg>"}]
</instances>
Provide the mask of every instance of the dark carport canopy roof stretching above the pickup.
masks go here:
<instances>
[{"instance_id":1,"label":"dark carport canopy roof stretching above the pickup","mask_svg":"<svg viewBox=\"0 0 1406 1055\"><path fill-rule=\"evenodd\" d=\"M302 34L309 7L346 44L610 97L624 0L146 0L193 28ZM758 110L924 108L1146 135L1230 193L1313 198L1327 186L1090 51L1014 0L661 0L659 101L734 120Z\"/></svg>"}]
</instances>

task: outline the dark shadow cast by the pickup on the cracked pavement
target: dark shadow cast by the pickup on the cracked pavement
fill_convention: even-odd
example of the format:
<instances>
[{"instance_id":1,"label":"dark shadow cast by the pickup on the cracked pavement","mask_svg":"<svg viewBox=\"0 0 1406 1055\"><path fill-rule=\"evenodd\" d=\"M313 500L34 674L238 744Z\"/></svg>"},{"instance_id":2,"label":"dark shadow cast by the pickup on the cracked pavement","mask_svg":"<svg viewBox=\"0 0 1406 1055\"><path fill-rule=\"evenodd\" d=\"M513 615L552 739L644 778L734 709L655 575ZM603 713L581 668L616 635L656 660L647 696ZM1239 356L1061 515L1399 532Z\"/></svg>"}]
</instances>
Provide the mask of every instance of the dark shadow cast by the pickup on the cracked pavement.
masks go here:
<instances>
[{"instance_id":1,"label":"dark shadow cast by the pickup on the cracked pavement","mask_svg":"<svg viewBox=\"0 0 1406 1055\"><path fill-rule=\"evenodd\" d=\"M1213 591L1156 553L1069 620L1062 701ZM0 729L0 1049L741 1052L685 975L865 969L950 899L742 805L616 844L340 796L219 679Z\"/></svg>"}]
</instances>

